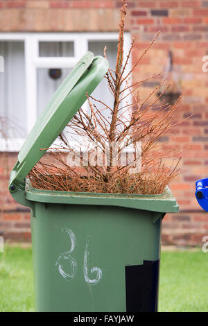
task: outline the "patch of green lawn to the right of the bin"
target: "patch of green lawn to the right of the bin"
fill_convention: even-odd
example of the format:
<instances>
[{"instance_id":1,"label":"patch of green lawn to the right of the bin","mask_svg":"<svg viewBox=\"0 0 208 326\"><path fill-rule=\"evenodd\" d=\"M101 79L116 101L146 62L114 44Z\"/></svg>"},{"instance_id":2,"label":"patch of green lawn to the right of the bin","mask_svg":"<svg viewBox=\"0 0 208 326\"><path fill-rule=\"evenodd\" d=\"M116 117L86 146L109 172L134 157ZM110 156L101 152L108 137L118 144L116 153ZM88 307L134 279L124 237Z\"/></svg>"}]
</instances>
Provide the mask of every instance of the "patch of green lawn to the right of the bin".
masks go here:
<instances>
[{"instance_id":1,"label":"patch of green lawn to the right of the bin","mask_svg":"<svg viewBox=\"0 0 208 326\"><path fill-rule=\"evenodd\" d=\"M162 252L159 311L208 311L208 253Z\"/></svg>"}]
</instances>

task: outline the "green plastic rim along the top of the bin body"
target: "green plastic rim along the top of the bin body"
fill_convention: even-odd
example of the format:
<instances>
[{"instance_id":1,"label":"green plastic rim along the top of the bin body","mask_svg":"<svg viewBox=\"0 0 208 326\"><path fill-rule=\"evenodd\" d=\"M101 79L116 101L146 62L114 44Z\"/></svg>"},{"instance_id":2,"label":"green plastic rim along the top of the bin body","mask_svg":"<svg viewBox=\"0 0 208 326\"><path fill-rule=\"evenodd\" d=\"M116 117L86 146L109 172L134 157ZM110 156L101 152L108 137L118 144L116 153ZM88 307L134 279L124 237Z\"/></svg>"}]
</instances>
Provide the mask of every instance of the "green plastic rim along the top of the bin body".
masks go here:
<instances>
[{"instance_id":1,"label":"green plastic rim along the top of the bin body","mask_svg":"<svg viewBox=\"0 0 208 326\"><path fill-rule=\"evenodd\" d=\"M33 188L26 182L26 199L31 202L61 205L119 206L151 212L178 212L179 206L168 186L162 194L105 194L73 191L51 191Z\"/></svg>"}]
</instances>

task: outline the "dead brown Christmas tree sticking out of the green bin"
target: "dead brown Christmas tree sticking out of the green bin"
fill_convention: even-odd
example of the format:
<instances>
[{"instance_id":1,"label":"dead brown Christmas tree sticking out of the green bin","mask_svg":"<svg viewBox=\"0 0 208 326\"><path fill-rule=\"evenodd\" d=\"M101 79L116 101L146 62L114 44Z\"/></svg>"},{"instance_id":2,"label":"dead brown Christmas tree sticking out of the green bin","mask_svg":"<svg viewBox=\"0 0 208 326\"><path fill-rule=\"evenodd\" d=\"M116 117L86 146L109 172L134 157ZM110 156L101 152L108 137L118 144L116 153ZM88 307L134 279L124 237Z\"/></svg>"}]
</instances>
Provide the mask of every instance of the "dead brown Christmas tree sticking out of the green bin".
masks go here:
<instances>
[{"instance_id":1,"label":"dead brown Christmas tree sticking out of the green bin","mask_svg":"<svg viewBox=\"0 0 208 326\"><path fill-rule=\"evenodd\" d=\"M160 32L139 55L131 69L126 72L135 40L132 39L128 55L123 60L125 15L126 1L123 0L116 67L115 69L109 68L105 76L107 87L113 98L113 105L105 103L102 98L94 98L94 96L86 94L89 111L85 112L80 108L68 123L69 135L71 137L78 135L82 139L80 144L85 144L81 155L82 166L70 166L67 162L65 152L75 152L67 137L61 134L61 147L49 148L48 159L40 161L29 174L33 187L116 194L161 194L168 182L181 173L179 167L181 158L174 159L169 166L166 165L165 160L167 157L180 155L184 150L164 151L163 148L161 153L158 151L158 148L162 148L164 144L174 139L173 136L171 139L161 141L162 136L167 135L173 126L177 126L181 122L173 122L174 112L180 98L174 105L159 103L169 85L164 87L159 96L156 94L166 80L162 80L145 98L140 98L139 87L146 80L157 78L159 74L137 80L131 85L128 82L130 75L135 71L144 55L148 53ZM103 53L107 59L106 46ZM130 100L128 96L130 96ZM187 119L183 119L182 122ZM141 141L141 157L135 157L135 160L122 165L123 151L128 146L135 149L137 141ZM114 153L115 144L116 154ZM105 153L106 148L108 149L107 154ZM44 149L46 150L46 148ZM60 153L60 149L64 151ZM84 153L85 151L88 151L87 155ZM100 160L98 160L98 151L101 153ZM114 166L116 155L119 159ZM92 164L92 157L94 164ZM140 159L141 171L130 173L130 163L137 164Z\"/></svg>"}]
</instances>

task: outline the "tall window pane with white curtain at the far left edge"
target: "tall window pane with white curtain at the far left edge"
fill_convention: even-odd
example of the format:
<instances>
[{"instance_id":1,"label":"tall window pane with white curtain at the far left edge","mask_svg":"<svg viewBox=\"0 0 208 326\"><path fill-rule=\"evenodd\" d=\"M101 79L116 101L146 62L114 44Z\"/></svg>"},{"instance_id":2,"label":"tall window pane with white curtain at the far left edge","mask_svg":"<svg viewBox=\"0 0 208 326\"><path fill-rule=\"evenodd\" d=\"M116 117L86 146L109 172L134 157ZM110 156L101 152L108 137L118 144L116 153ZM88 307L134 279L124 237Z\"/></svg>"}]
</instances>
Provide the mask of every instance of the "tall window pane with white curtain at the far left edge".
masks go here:
<instances>
[{"instance_id":1,"label":"tall window pane with white curtain at the far left edge","mask_svg":"<svg viewBox=\"0 0 208 326\"><path fill-rule=\"evenodd\" d=\"M0 137L26 137L24 42L0 42L0 55Z\"/></svg>"}]
</instances>

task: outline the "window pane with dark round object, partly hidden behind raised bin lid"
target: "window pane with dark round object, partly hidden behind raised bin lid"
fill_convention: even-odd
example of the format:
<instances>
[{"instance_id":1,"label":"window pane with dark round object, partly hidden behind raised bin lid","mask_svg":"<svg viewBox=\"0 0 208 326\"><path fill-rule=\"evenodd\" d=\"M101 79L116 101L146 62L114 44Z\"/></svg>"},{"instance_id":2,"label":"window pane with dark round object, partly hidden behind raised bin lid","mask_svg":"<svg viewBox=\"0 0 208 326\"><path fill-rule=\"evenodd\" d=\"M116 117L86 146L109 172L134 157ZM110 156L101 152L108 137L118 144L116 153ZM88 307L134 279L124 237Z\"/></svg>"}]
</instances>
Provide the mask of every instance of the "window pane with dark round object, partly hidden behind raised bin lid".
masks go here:
<instances>
[{"instance_id":1,"label":"window pane with dark round object, partly hidden behind raised bin lid","mask_svg":"<svg viewBox=\"0 0 208 326\"><path fill-rule=\"evenodd\" d=\"M37 114L39 115L51 100L56 89L67 77L71 69L37 69Z\"/></svg>"}]
</instances>

